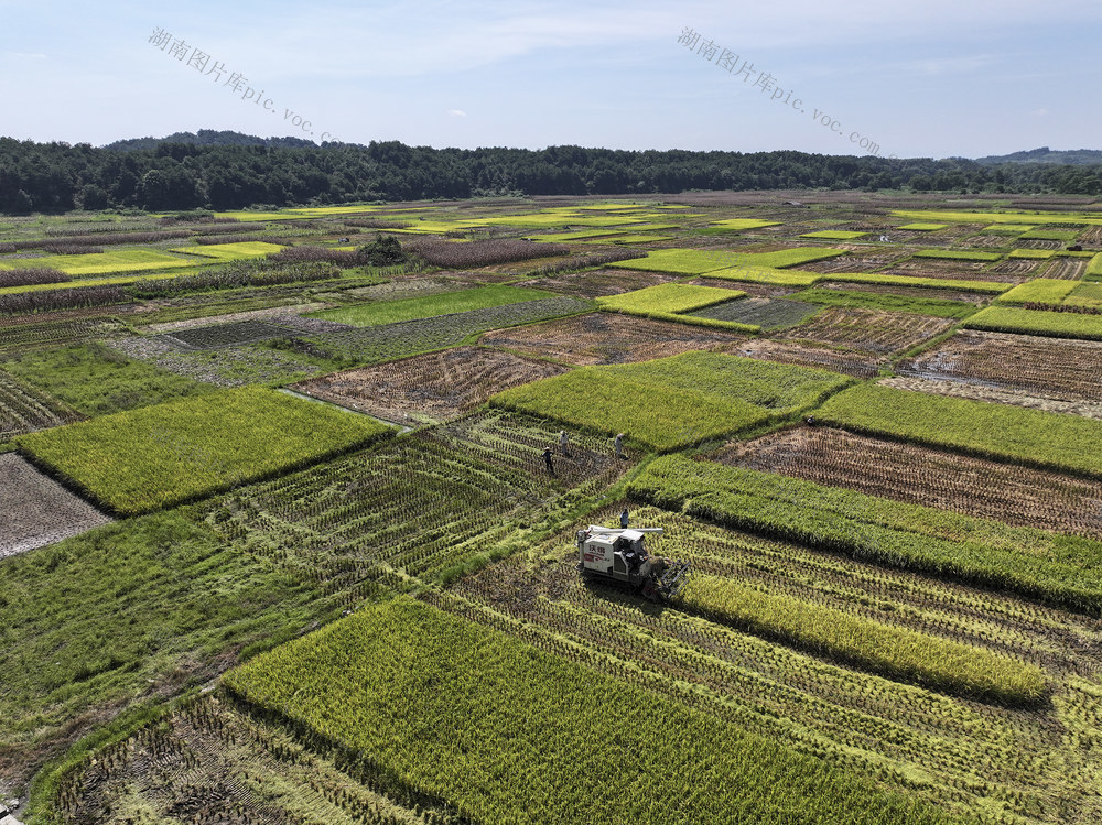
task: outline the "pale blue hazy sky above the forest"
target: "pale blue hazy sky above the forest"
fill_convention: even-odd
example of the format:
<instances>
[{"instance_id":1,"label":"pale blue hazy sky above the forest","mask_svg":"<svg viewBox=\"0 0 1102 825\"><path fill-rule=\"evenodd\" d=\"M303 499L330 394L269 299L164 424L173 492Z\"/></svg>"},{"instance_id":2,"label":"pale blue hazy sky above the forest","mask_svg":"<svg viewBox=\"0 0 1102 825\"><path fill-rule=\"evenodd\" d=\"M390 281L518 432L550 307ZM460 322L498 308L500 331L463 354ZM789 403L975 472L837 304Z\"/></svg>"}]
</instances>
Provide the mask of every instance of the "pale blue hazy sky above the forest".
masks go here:
<instances>
[{"instance_id":1,"label":"pale blue hazy sky above the forest","mask_svg":"<svg viewBox=\"0 0 1102 825\"><path fill-rule=\"evenodd\" d=\"M830 154L865 154L864 139L905 158L1102 148L1089 62L1102 3L1079 0L0 0L0 135L19 139L234 129ZM693 48L678 43L685 28L701 35ZM184 61L150 43L156 30L184 42ZM719 65L724 48L753 65L749 79ZM195 50L205 70L186 63ZM236 93L233 73L247 80Z\"/></svg>"}]
</instances>

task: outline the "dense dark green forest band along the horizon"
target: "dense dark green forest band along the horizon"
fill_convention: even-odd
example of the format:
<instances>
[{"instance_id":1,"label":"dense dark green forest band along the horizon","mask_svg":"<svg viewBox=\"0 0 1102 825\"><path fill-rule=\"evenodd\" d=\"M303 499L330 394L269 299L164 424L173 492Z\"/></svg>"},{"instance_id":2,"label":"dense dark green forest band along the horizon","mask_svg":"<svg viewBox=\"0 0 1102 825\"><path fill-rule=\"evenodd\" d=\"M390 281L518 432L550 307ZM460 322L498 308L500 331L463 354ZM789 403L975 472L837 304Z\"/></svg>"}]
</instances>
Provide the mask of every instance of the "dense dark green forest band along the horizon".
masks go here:
<instances>
[{"instance_id":1,"label":"dense dark green forest band along the horizon","mask_svg":"<svg viewBox=\"0 0 1102 825\"><path fill-rule=\"evenodd\" d=\"M216 135L212 138L210 135ZM433 149L397 141L288 145L227 132L96 148L0 138L0 211L619 195L690 189L1102 194L1102 164L888 160L803 152Z\"/></svg>"}]
</instances>

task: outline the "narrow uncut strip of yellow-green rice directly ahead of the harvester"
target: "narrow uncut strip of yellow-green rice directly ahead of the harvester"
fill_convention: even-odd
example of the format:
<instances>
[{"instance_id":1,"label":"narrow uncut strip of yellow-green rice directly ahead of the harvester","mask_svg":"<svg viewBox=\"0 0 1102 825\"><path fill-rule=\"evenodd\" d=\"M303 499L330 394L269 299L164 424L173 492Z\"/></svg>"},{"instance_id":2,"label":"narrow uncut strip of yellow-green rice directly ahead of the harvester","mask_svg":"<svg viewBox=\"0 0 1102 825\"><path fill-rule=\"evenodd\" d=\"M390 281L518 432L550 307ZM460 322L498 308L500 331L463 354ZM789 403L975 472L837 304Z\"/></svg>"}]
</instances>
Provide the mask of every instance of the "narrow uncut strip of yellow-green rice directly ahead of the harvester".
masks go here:
<instances>
[{"instance_id":1,"label":"narrow uncut strip of yellow-green rice directly ahead of the harvester","mask_svg":"<svg viewBox=\"0 0 1102 825\"><path fill-rule=\"evenodd\" d=\"M694 611L949 693L1036 702L1045 672L1020 659L894 627L721 576L694 575L678 599Z\"/></svg>"}]
</instances>

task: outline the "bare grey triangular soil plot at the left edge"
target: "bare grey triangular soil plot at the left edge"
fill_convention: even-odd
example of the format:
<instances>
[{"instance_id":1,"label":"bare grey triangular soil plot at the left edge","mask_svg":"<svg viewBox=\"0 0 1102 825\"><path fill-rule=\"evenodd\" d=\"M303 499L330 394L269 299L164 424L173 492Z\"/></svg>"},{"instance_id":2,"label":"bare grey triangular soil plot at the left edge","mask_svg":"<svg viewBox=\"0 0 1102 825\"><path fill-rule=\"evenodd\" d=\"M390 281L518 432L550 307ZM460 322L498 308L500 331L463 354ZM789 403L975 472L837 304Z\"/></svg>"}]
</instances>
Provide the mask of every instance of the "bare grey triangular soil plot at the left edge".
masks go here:
<instances>
[{"instance_id":1,"label":"bare grey triangular soil plot at the left edge","mask_svg":"<svg viewBox=\"0 0 1102 825\"><path fill-rule=\"evenodd\" d=\"M109 521L18 455L0 455L0 560Z\"/></svg>"}]
</instances>

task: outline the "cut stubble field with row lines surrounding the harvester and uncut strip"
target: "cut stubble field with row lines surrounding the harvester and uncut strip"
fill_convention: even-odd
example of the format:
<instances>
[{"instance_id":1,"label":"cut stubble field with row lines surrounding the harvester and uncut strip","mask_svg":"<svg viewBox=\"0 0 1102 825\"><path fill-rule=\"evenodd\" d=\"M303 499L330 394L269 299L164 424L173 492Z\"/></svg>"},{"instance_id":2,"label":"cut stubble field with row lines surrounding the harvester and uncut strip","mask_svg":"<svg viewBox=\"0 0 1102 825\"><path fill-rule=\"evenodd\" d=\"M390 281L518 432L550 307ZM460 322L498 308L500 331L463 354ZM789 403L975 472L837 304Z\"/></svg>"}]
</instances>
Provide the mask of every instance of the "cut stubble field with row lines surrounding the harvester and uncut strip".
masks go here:
<instances>
[{"instance_id":1,"label":"cut stubble field with row lines surrounding the harvester and uncut strip","mask_svg":"<svg viewBox=\"0 0 1102 825\"><path fill-rule=\"evenodd\" d=\"M596 523L613 523L618 508ZM1024 656L1054 680L1052 701L1007 707L946 695L861 672L828 652L802 652L677 608L653 609L572 575L571 531L456 583L451 594L463 600L432 600L949 810L983 807L993 818L1026 823L1102 814L1088 790L1100 729L1096 682L1083 675L1096 666L1088 664L1100 639L1092 619L680 513L639 507L631 514L666 530L648 539L652 552L691 561L704 575L785 594L809 612L831 607Z\"/></svg>"}]
</instances>

